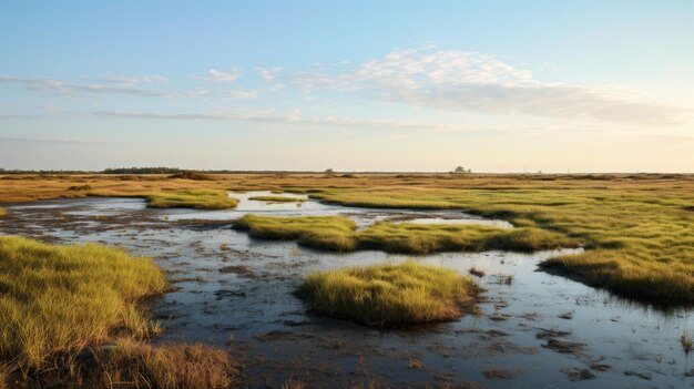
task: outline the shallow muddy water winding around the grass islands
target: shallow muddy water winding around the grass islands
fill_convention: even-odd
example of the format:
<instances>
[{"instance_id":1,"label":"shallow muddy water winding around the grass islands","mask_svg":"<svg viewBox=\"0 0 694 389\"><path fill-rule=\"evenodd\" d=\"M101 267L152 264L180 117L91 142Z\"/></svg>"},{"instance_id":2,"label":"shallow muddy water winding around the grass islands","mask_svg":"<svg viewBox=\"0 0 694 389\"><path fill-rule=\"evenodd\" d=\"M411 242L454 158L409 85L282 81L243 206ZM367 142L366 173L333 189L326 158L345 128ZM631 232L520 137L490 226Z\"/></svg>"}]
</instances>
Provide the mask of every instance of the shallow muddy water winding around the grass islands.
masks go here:
<instances>
[{"instance_id":1,"label":"shallow muddy water winding around the grass islands","mask_svg":"<svg viewBox=\"0 0 694 389\"><path fill-rule=\"evenodd\" d=\"M174 291L152 301L157 340L232 345L244 385L275 388L378 382L394 388L694 388L694 355L680 345L694 309L655 308L539 272L555 253L446 253L417 258L467 273L487 289L482 314L460 321L379 330L312 311L293 291L303 275L345 265L410 258L380 252L331 254L294 242L249 238L229 221L246 213L346 215L360 227L380 219L483 223L459 212L347 208L314 201L267 204L234 194L231 211L147 209L134 198L80 198L8 206L0 234L54 243L101 242L147 255ZM429 221L427 221L429 219Z\"/></svg>"}]
</instances>

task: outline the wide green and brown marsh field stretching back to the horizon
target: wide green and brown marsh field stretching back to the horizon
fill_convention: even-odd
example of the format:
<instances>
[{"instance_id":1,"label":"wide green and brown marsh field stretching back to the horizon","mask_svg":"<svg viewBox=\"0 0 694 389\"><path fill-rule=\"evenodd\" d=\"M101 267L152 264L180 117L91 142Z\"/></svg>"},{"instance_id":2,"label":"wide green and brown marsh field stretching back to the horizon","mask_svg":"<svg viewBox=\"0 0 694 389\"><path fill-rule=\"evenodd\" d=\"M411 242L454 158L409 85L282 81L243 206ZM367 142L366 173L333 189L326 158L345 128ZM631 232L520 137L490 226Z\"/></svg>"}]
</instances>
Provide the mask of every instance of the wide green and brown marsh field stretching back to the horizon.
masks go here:
<instances>
[{"instance_id":1,"label":"wide green and brown marsh field stretching back to the horizon","mask_svg":"<svg viewBox=\"0 0 694 389\"><path fill-rule=\"evenodd\" d=\"M276 190L346 206L463 209L584 242L548 265L592 285L664 301L694 299L694 176L467 174L7 175L0 201ZM89 185L88 191L70 190Z\"/></svg>"}]
</instances>

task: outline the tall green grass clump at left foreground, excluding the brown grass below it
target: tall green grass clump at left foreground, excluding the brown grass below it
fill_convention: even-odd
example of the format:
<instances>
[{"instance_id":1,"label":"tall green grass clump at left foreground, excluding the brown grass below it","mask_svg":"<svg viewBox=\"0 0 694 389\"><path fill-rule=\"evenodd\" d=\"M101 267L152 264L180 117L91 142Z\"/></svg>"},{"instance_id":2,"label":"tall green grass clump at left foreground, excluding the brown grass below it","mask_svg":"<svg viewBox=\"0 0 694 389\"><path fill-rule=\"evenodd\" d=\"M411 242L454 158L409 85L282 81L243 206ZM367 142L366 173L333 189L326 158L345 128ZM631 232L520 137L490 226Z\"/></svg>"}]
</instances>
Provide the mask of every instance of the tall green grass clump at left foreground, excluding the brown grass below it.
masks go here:
<instances>
[{"instance_id":1,"label":"tall green grass clump at left foreground, excluding the brown grass below it","mask_svg":"<svg viewBox=\"0 0 694 389\"><path fill-rule=\"evenodd\" d=\"M165 287L149 258L96 244L0 237L0 365L28 375L115 331L149 335L137 303Z\"/></svg>"}]
</instances>

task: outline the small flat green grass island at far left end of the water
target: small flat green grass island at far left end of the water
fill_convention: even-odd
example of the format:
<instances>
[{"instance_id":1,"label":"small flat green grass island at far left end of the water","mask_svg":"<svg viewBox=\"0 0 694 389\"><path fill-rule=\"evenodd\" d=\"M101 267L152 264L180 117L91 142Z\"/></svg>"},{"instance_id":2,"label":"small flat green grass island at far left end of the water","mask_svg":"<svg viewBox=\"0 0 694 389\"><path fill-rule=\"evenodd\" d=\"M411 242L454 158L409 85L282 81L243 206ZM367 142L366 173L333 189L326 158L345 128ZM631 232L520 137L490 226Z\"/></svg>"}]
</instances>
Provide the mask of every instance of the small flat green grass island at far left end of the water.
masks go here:
<instances>
[{"instance_id":1,"label":"small flat green grass island at far left end of the water","mask_svg":"<svg viewBox=\"0 0 694 389\"><path fill-rule=\"evenodd\" d=\"M151 208L229 209L236 205L238 201L222 190L190 190L147 196L147 207Z\"/></svg>"}]
</instances>

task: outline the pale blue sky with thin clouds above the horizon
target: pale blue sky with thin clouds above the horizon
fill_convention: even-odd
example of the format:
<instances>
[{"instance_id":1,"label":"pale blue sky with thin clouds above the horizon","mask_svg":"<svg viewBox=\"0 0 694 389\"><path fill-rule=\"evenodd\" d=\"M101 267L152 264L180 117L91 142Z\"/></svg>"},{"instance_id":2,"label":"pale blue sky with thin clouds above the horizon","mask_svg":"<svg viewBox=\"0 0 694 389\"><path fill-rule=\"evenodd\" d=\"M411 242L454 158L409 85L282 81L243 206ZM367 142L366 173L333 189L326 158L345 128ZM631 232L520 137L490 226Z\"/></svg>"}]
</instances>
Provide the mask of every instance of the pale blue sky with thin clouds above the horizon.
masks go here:
<instances>
[{"instance_id":1,"label":"pale blue sky with thin clouds above the horizon","mask_svg":"<svg viewBox=\"0 0 694 389\"><path fill-rule=\"evenodd\" d=\"M0 0L0 167L694 172L694 2Z\"/></svg>"}]
</instances>

